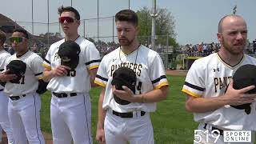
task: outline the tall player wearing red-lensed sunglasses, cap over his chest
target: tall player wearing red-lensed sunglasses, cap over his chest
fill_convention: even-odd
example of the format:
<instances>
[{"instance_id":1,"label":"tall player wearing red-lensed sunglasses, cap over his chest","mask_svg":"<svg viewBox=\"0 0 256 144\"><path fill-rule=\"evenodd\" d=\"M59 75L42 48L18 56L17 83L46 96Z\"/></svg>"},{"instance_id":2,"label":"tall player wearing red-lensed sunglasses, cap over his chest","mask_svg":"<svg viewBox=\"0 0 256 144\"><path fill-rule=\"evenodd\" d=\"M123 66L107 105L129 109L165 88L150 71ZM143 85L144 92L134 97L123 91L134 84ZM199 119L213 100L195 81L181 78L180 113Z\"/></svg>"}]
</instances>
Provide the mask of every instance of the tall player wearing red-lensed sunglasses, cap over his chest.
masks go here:
<instances>
[{"instance_id":1,"label":"tall player wearing red-lensed sunglasses, cap over his chest","mask_svg":"<svg viewBox=\"0 0 256 144\"><path fill-rule=\"evenodd\" d=\"M78 35L80 15L73 7L60 7L59 22L65 38L50 46L44 62L44 79L49 82L47 89L52 92L50 121L54 144L92 143L90 132L90 87L98 70L100 57L94 43ZM68 41L73 41L70 44ZM78 49L77 46L78 45ZM78 54L65 56L73 50ZM64 65L78 59L78 66ZM75 61L74 61L75 62Z\"/></svg>"}]
</instances>

